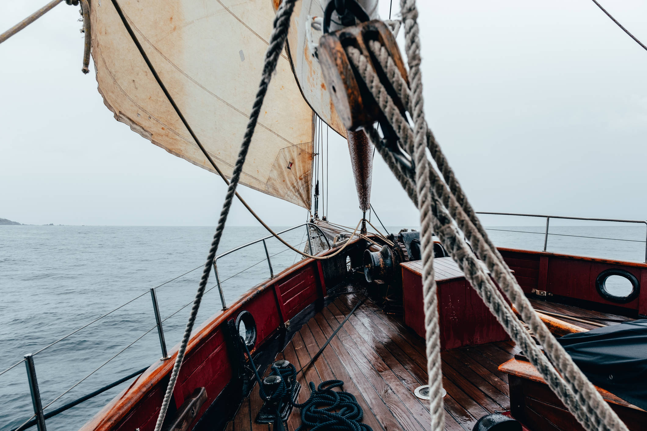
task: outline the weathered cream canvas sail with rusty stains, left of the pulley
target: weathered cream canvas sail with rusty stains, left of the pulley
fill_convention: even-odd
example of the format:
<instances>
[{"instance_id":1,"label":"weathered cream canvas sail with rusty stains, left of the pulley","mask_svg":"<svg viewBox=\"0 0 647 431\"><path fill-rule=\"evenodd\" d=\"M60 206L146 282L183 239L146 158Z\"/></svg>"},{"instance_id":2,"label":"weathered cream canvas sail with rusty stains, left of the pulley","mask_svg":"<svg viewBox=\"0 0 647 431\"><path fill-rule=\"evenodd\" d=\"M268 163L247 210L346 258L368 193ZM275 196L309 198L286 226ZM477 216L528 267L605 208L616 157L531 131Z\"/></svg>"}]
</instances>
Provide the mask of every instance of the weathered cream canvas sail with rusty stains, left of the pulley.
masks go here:
<instances>
[{"instance_id":1,"label":"weathered cream canvas sail with rusty stains, left of the pulley","mask_svg":"<svg viewBox=\"0 0 647 431\"><path fill-rule=\"evenodd\" d=\"M263 68L270 0L119 0L147 56L218 167L230 174ZM153 78L110 0L93 1L92 54L115 118L155 145L213 171ZM313 112L283 54L241 184L310 207Z\"/></svg>"}]
</instances>

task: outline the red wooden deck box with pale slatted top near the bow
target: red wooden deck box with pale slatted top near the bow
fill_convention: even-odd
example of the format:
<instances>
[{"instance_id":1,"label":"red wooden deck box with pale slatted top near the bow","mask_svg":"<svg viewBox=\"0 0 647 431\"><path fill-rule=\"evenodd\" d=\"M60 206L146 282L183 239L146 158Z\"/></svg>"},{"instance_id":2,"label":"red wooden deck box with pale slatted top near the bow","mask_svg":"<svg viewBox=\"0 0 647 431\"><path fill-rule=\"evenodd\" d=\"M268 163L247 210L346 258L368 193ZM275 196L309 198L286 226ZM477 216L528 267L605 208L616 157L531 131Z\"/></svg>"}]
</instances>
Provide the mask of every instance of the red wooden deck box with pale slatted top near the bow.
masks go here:
<instances>
[{"instance_id":1,"label":"red wooden deck box with pale slatted top near the bow","mask_svg":"<svg viewBox=\"0 0 647 431\"><path fill-rule=\"evenodd\" d=\"M454 274L443 278L438 274L443 271L446 269L439 267L436 276L441 350L509 339L465 277ZM404 323L424 337L422 277L407 264L402 264L402 297Z\"/></svg>"}]
</instances>

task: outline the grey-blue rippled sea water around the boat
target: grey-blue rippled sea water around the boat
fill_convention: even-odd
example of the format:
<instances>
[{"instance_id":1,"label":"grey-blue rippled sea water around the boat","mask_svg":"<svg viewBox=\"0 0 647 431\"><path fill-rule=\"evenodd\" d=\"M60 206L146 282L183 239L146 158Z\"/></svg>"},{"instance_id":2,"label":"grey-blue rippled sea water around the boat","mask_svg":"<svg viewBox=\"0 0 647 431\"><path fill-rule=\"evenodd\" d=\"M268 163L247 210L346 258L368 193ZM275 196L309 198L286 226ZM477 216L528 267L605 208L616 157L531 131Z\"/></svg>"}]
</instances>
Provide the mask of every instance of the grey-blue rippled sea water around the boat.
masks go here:
<instances>
[{"instance_id":1,"label":"grey-blue rippled sea water around the boat","mask_svg":"<svg viewBox=\"0 0 647 431\"><path fill-rule=\"evenodd\" d=\"M498 246L543 248L543 226L491 229ZM644 229L554 226L547 248L641 262ZM282 237L303 249L304 234L302 227ZM45 411L157 361L161 352L149 289L162 285L156 291L170 350L181 340L213 235L214 227L0 226L0 372L136 297L34 356L43 405L101 367ZM265 235L262 227L228 227L219 253ZM274 274L300 259L275 238L266 243ZM269 277L262 243L219 259L217 266L227 304ZM197 322L222 308L213 275L208 289ZM48 430L78 429L127 384L47 419ZM32 414L21 363L0 375L0 431L16 428Z\"/></svg>"}]
</instances>

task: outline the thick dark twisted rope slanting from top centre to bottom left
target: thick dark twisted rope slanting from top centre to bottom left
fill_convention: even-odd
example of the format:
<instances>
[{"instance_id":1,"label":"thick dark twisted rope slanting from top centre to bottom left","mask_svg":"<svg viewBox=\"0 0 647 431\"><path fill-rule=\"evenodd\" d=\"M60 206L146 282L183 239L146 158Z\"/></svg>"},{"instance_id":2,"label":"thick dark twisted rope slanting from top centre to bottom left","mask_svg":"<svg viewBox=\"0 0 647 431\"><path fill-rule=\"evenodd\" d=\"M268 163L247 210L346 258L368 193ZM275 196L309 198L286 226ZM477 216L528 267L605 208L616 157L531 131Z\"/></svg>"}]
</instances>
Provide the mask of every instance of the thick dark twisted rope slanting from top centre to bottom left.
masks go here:
<instances>
[{"instance_id":1,"label":"thick dark twisted rope slanting from top centre to bottom left","mask_svg":"<svg viewBox=\"0 0 647 431\"><path fill-rule=\"evenodd\" d=\"M182 337L182 342L177 352L177 357L175 358L173 372L171 372L171 378L168 386L166 387L166 394L164 395L164 401L162 402L162 407L160 408L160 414L157 417L155 431L161 430L162 423L164 422L164 417L166 416L166 411L168 410L168 405L171 401L171 397L173 396L175 382L177 381L177 376L179 375L182 361L184 360L186 346L189 342L191 331L193 330L195 317L197 316L198 309L200 308L200 302L204 294L204 289L206 288L209 274L211 273L211 267L214 264L215 254L217 252L218 245L220 244L220 238L223 235L223 229L225 229L227 215L229 214L229 210L232 206L234 194L236 193L236 187L243 171L243 164L245 163L245 158L247 158L247 151L249 149L250 143L252 142L252 136L254 135L254 129L256 128L258 116L261 113L263 100L265 99L267 88L269 86L270 80L272 79L272 73L276 69L276 63L278 62L278 59L281 55L281 51L283 50L283 45L285 45L285 39L287 38L287 32L290 26L290 17L292 16L295 2L296 0L283 0L283 2L281 2L279 10L276 12L276 17L274 18L274 30L272 30L272 35L270 36L270 45L267 48L267 52L265 52L263 76L261 77L258 92L256 92L256 100L254 100L252 112L250 113L250 118L247 123L247 129L245 130L245 136L243 137L241 149L236 160L236 165L234 166L234 171L232 172L229 187L227 189L227 194L225 196L225 203L223 204L223 210L220 213L218 226L215 229L214 240L211 243L209 254L207 256L206 263L204 264L203 275L200 279L197 293L195 293L195 300L193 300L193 306L191 308L189 320L188 322L186 322L184 336Z\"/></svg>"}]
</instances>

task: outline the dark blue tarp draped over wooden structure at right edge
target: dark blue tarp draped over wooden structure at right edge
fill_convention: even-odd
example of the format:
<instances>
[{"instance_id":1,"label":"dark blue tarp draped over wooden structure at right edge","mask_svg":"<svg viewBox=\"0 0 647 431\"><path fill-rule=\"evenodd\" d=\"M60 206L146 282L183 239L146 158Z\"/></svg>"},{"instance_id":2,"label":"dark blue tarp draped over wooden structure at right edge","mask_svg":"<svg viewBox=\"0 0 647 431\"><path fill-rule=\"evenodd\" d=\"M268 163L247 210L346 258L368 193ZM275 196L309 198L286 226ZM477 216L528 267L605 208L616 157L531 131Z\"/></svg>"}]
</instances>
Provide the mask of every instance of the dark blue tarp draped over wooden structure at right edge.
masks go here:
<instances>
[{"instance_id":1,"label":"dark blue tarp draped over wooden structure at right edge","mask_svg":"<svg viewBox=\"0 0 647 431\"><path fill-rule=\"evenodd\" d=\"M647 319L557 340L591 383L647 410Z\"/></svg>"}]
</instances>

